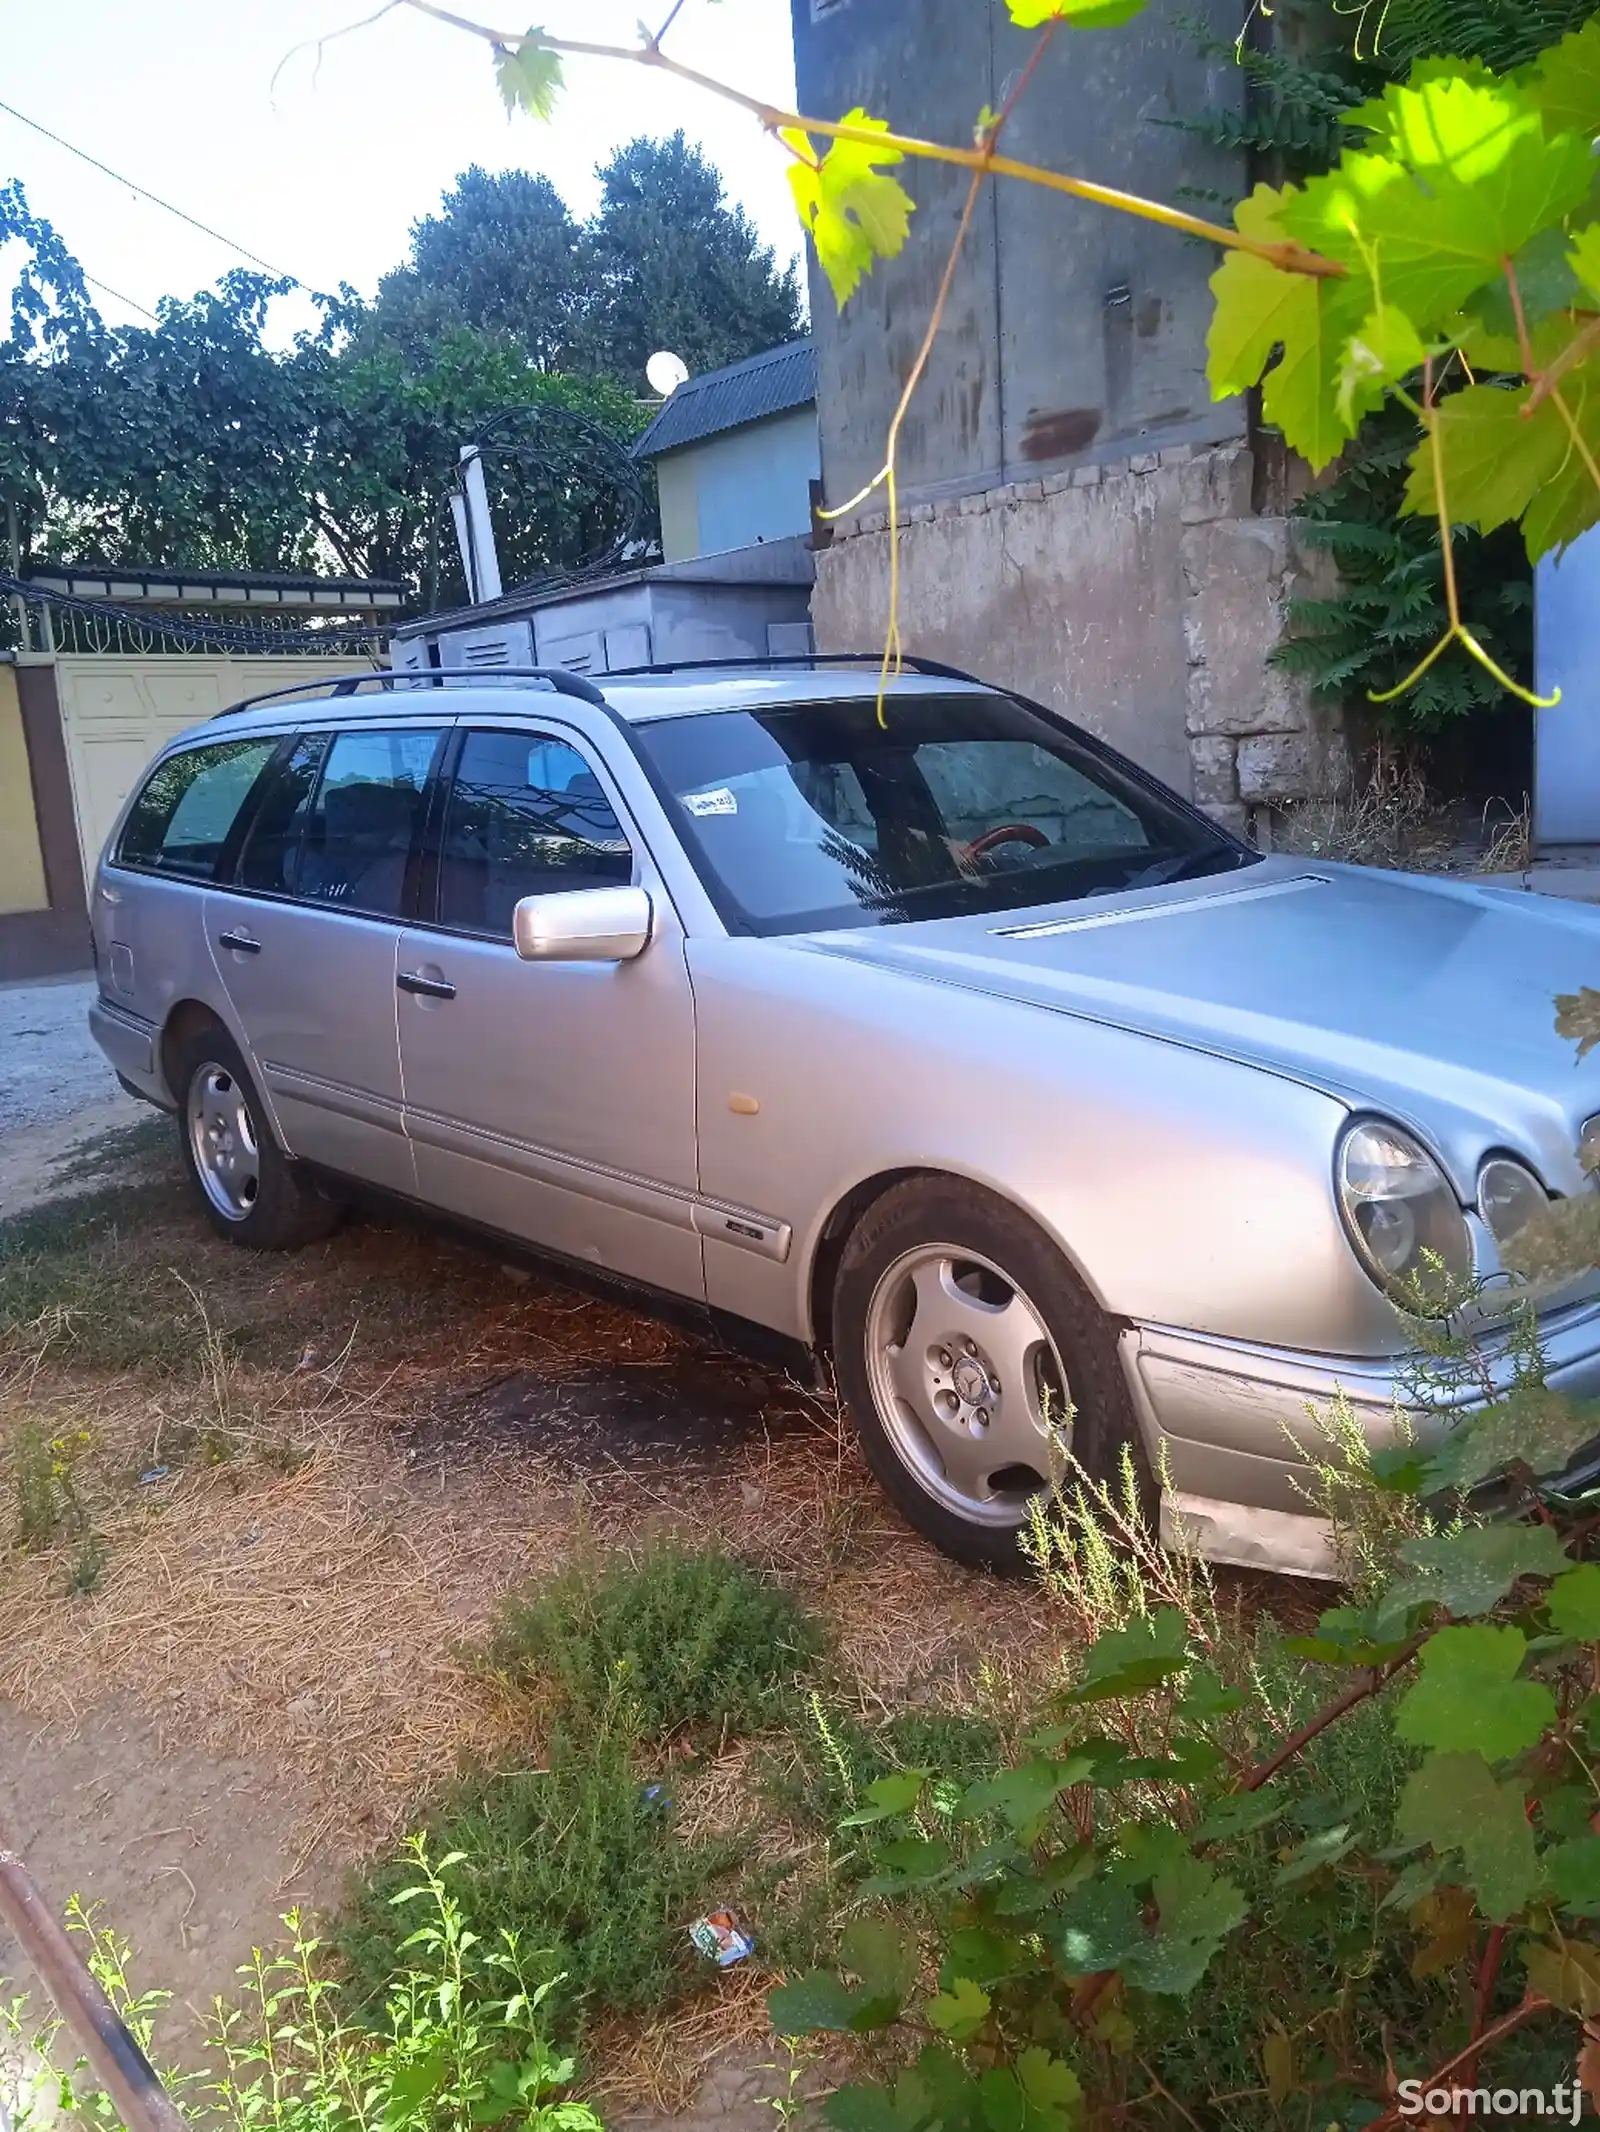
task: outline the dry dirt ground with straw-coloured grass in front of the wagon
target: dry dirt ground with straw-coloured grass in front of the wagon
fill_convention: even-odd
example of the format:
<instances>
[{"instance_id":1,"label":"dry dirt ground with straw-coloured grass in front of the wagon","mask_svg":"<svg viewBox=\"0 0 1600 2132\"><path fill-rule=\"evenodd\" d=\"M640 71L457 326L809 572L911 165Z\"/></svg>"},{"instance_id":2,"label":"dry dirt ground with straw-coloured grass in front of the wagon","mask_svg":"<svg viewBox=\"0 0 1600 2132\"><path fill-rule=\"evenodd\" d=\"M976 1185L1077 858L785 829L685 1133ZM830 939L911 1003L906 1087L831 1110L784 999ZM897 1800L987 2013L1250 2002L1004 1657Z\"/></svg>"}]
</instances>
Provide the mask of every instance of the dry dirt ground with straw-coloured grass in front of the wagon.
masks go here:
<instances>
[{"instance_id":1,"label":"dry dirt ground with straw-coloured grass in front of the wagon","mask_svg":"<svg viewBox=\"0 0 1600 2132\"><path fill-rule=\"evenodd\" d=\"M0 1467L6 1420L49 1428L102 1550L75 1595L73 1548L19 1552L0 1501L0 1814L49 1897L98 1904L175 1993L175 2060L284 1908L337 1895L463 1757L535 1748L538 1712L465 1646L574 1548L717 1535L832 1622L864 1712L1060 1644L1033 1586L915 1539L800 1386L442 1234L237 1251L149 1130L85 1175L96 1126L0 1141L6 1211L137 1168L70 1294L0 1350ZM738 1784L734 1757L700 1810ZM768 2126L770 1981L751 1964L608 2038L608 2119Z\"/></svg>"}]
</instances>

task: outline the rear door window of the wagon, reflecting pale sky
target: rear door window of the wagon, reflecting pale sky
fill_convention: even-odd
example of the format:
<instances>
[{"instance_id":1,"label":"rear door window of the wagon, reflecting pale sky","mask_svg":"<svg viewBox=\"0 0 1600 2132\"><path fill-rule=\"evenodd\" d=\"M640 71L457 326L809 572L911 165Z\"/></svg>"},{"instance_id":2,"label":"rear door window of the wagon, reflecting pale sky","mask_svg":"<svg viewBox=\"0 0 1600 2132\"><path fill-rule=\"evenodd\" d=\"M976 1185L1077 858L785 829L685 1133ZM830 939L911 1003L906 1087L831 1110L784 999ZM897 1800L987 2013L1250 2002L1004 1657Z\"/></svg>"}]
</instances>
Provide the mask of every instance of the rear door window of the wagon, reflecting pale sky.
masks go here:
<instances>
[{"instance_id":1,"label":"rear door window of the wagon, reflecting pale sky","mask_svg":"<svg viewBox=\"0 0 1600 2132\"><path fill-rule=\"evenodd\" d=\"M399 917L437 733L337 733L288 853L286 887L316 904Z\"/></svg>"}]
</instances>

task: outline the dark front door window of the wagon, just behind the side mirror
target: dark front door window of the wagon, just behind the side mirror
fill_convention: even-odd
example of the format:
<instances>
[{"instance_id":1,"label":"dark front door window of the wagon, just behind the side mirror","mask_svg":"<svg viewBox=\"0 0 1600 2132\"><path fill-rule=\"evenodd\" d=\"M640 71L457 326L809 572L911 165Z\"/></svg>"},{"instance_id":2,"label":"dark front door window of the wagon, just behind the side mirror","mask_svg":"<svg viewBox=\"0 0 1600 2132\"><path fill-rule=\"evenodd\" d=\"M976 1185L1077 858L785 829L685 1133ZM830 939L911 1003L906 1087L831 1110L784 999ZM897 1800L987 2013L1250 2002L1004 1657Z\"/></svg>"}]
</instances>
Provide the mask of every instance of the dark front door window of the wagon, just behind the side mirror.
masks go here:
<instances>
[{"instance_id":1,"label":"dark front door window of the wagon, just behind the side mirror","mask_svg":"<svg viewBox=\"0 0 1600 2132\"><path fill-rule=\"evenodd\" d=\"M529 733L467 733L444 817L442 925L510 940L523 895L631 878L623 825L576 748Z\"/></svg>"}]
</instances>

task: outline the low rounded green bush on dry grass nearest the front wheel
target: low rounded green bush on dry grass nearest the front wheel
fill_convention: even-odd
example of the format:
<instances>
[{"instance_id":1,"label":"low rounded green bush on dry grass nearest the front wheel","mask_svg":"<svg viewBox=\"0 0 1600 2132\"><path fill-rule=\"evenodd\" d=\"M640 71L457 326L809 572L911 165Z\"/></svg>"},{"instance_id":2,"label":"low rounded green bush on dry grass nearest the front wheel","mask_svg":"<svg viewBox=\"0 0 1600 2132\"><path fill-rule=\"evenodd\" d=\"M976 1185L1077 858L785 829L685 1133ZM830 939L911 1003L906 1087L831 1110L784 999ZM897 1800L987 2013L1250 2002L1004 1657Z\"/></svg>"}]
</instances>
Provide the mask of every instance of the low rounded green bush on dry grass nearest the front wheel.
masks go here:
<instances>
[{"instance_id":1,"label":"low rounded green bush on dry grass nearest the front wheel","mask_svg":"<svg viewBox=\"0 0 1600 2132\"><path fill-rule=\"evenodd\" d=\"M821 1650L817 1622L719 1550L657 1541L636 1563L585 1561L506 1608L489 1657L538 1678L570 1727L627 1703L638 1731L757 1731Z\"/></svg>"}]
</instances>

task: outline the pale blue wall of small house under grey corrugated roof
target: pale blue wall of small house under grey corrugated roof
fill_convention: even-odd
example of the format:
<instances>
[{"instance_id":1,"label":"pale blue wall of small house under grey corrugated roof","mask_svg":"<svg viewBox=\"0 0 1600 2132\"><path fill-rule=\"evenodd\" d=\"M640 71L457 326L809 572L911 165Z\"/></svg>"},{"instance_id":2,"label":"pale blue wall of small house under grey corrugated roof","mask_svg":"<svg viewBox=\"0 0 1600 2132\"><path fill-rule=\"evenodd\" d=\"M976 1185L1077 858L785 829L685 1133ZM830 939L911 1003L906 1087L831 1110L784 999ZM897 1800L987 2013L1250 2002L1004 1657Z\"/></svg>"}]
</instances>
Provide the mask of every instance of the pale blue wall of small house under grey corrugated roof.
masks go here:
<instances>
[{"instance_id":1,"label":"pale blue wall of small house under grey corrugated roof","mask_svg":"<svg viewBox=\"0 0 1600 2132\"><path fill-rule=\"evenodd\" d=\"M815 407L791 407L719 437L663 452L661 552L668 563L725 554L811 529L811 484L821 473Z\"/></svg>"}]
</instances>

